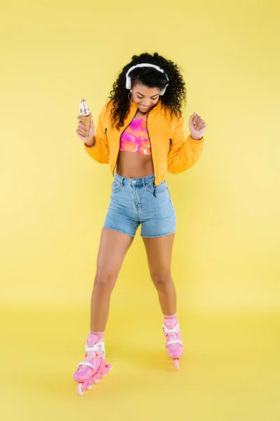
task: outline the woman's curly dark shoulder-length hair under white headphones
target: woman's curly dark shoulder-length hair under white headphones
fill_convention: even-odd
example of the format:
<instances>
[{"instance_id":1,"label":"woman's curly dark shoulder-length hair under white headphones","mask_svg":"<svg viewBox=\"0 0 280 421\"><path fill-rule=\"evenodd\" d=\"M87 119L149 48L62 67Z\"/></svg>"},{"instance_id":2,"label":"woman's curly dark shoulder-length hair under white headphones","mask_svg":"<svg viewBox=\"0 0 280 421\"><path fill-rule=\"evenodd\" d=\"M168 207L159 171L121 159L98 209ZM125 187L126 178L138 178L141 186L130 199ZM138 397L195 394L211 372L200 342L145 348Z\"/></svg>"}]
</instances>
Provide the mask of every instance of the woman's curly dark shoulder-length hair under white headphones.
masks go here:
<instances>
[{"instance_id":1,"label":"woman's curly dark shoulder-length hair under white headphones","mask_svg":"<svg viewBox=\"0 0 280 421\"><path fill-rule=\"evenodd\" d=\"M130 100L127 96L128 91L125 88L125 74L130 67L139 65L140 63L150 63L157 65L165 71L169 81L164 73L158 72L153 67L137 67L130 72L132 87L136 83L142 83L150 88L164 88L167 83L167 90L164 95L160 96L162 106L169 109L170 115L174 114L181 116L183 103L186 102L186 88L183 76L180 73L179 67L172 62L162 57L158 53L153 55L149 53L142 53L140 55L133 55L132 61L123 67L118 79L113 83L113 89L110 92L109 100L113 101L113 108L111 109L111 122L118 130L124 125L124 120L130 109Z\"/></svg>"}]
</instances>

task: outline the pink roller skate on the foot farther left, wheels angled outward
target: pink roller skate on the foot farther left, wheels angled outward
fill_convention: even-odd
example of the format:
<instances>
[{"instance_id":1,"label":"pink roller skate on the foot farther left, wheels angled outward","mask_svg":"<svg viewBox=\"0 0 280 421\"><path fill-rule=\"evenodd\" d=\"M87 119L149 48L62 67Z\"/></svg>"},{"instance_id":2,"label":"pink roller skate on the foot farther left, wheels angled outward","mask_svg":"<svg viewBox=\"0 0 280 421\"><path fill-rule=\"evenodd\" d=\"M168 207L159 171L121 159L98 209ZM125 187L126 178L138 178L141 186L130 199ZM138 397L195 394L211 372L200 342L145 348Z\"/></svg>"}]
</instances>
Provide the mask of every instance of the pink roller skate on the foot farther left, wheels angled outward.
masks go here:
<instances>
[{"instance_id":1,"label":"pink roller skate on the foot farther left, wheels angled outward","mask_svg":"<svg viewBox=\"0 0 280 421\"><path fill-rule=\"evenodd\" d=\"M77 393L82 396L85 390L92 389L93 383L97 385L100 377L106 377L112 366L105 363L104 340L97 335L87 335L85 344L85 359L78 363L78 368L73 375L73 380L78 382Z\"/></svg>"}]
</instances>

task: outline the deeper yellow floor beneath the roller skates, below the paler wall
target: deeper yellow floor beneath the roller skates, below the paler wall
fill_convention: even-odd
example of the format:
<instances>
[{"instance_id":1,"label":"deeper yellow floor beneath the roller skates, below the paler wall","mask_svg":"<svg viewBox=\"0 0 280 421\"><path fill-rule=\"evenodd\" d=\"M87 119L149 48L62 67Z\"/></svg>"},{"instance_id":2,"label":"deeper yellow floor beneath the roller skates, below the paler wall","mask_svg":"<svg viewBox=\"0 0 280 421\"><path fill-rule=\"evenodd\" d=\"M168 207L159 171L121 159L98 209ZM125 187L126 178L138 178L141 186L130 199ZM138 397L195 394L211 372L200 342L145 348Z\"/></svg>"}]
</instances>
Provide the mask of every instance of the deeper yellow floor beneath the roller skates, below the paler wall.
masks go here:
<instances>
[{"instance_id":1,"label":"deeper yellow floor beneath the roller skates, below the paler wall","mask_svg":"<svg viewBox=\"0 0 280 421\"><path fill-rule=\"evenodd\" d=\"M78 396L72 375L83 357L86 309L2 308L2 420L280 419L279 314L181 314L186 346L176 372L160 317L147 328L140 310L126 319L112 309L106 352L113 370Z\"/></svg>"}]
</instances>

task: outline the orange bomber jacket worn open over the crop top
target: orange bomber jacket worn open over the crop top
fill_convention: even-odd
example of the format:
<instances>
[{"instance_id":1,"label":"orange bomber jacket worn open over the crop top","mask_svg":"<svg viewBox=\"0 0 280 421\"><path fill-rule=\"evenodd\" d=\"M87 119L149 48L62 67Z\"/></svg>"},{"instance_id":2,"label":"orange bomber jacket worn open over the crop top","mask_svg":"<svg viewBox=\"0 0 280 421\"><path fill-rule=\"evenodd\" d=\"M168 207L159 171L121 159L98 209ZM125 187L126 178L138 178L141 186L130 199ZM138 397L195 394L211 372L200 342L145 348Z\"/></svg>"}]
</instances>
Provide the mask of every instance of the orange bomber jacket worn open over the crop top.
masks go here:
<instances>
[{"instance_id":1,"label":"orange bomber jacket worn open over the crop top","mask_svg":"<svg viewBox=\"0 0 280 421\"><path fill-rule=\"evenodd\" d=\"M110 102L106 102L99 114L95 127L95 145L88 147L84 143L84 147L87 154L95 161L109 163L111 173L114 174L120 150L120 136L134 119L138 108L134 102L131 103L124 126L118 131L116 127L111 125L109 116L112 107L113 105ZM204 138L193 140L190 135L185 138L183 118L180 116L171 117L168 110L165 114L165 109L162 107L160 100L148 112L147 128L151 142L155 186L160 185L165 180L166 171L172 174L182 173L193 166L200 158Z\"/></svg>"}]
</instances>

